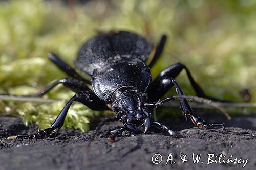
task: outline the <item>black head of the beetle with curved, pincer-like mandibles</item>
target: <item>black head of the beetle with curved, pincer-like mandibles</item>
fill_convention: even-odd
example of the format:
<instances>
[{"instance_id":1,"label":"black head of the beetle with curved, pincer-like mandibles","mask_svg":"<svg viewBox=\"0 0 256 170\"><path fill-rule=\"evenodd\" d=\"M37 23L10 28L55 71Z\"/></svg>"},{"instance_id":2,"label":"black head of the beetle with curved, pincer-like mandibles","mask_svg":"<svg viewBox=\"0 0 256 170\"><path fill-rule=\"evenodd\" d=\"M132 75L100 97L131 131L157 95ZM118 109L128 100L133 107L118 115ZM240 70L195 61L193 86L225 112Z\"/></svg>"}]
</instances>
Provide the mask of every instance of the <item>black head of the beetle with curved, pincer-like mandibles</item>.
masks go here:
<instances>
[{"instance_id":1,"label":"black head of the beetle with curved, pincer-like mandibles","mask_svg":"<svg viewBox=\"0 0 256 170\"><path fill-rule=\"evenodd\" d=\"M146 133L151 126L151 114L144 103L147 95L135 88L124 87L117 90L112 98L112 110L120 116L123 125L134 133L139 133L138 127L144 127Z\"/></svg>"}]
</instances>

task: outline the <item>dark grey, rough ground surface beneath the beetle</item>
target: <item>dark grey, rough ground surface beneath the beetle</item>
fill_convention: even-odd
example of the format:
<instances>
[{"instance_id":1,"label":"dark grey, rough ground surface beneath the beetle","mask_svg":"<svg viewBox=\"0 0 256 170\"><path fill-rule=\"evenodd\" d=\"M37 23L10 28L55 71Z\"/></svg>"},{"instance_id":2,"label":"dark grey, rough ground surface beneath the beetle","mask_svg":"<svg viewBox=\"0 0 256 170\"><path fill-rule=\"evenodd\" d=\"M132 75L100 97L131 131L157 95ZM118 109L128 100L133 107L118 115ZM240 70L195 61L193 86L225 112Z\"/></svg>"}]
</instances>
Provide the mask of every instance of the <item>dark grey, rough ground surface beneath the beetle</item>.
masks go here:
<instances>
[{"instance_id":1,"label":"dark grey, rough ground surface beneath the beetle","mask_svg":"<svg viewBox=\"0 0 256 170\"><path fill-rule=\"evenodd\" d=\"M107 139L110 130L121 124L109 123L95 138L95 130L82 133L62 129L57 137L7 140L8 136L19 133L35 133L37 127L26 127L16 117L0 116L0 169L242 169L246 159L248 163L243 169L256 169L255 115L232 116L230 121L219 114L201 117L210 123L225 122L227 128L224 131L202 129L184 119L165 119L162 122L179 133L177 138L160 133L134 135L125 131L115 143L110 143ZM198 163L193 162L193 153L195 157L201 154ZM154 154L161 154L161 163L152 162ZM187 154L187 161L183 163L182 154ZM225 158L220 159L222 163L209 160L208 164L210 154L214 154L213 161L218 161L221 154ZM223 163L228 158L240 159L240 163ZM161 157L153 160L157 163Z\"/></svg>"}]
</instances>

